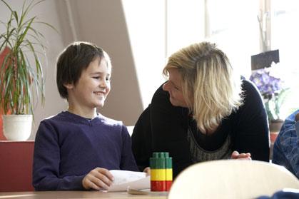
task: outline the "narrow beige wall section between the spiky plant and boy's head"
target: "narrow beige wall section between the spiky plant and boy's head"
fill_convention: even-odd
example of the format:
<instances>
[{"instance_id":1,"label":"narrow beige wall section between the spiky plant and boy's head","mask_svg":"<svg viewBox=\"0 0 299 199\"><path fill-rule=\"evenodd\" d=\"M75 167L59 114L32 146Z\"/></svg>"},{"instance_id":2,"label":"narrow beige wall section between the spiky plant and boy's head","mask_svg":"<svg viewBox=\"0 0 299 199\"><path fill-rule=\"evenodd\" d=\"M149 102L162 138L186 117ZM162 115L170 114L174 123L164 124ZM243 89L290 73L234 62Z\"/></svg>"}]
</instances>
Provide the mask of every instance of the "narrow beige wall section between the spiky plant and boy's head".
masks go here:
<instances>
[{"instance_id":1,"label":"narrow beige wall section between the spiky plant and boy's head","mask_svg":"<svg viewBox=\"0 0 299 199\"><path fill-rule=\"evenodd\" d=\"M38 7L36 11L32 11L34 14L39 14L41 16L41 21L46 21L47 23L53 25L57 32L49 28L44 28L40 26L41 31L44 32L44 36L48 41L48 66L46 68L46 103L42 107L40 104L34 111L34 125L32 126L32 133L29 139L34 139L37 128L39 127L39 122L44 118L56 115L60 111L66 110L67 103L64 101L58 93L56 87L56 59L59 53L64 49L64 40L61 36L61 24L59 21L59 16L56 11L55 1L44 1ZM37 26L37 28L39 28Z\"/></svg>"}]
</instances>

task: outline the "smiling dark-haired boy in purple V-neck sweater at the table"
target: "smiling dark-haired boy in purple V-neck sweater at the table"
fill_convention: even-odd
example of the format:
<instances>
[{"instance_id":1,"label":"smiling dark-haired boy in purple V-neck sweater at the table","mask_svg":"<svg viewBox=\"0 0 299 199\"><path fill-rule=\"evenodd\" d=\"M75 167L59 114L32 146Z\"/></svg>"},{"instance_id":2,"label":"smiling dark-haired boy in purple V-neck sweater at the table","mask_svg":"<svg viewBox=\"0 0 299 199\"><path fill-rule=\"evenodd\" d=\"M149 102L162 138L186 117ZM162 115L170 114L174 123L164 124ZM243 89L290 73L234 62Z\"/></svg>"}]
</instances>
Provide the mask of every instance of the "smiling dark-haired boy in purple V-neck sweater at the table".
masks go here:
<instances>
[{"instance_id":1,"label":"smiling dark-haired boy in purple V-neck sweater at the table","mask_svg":"<svg viewBox=\"0 0 299 199\"><path fill-rule=\"evenodd\" d=\"M138 170L126 126L96 113L110 91L110 79L110 58L96 45L74 42L61 53L56 83L69 109L39 125L36 190L107 190L113 180L108 170Z\"/></svg>"}]
</instances>

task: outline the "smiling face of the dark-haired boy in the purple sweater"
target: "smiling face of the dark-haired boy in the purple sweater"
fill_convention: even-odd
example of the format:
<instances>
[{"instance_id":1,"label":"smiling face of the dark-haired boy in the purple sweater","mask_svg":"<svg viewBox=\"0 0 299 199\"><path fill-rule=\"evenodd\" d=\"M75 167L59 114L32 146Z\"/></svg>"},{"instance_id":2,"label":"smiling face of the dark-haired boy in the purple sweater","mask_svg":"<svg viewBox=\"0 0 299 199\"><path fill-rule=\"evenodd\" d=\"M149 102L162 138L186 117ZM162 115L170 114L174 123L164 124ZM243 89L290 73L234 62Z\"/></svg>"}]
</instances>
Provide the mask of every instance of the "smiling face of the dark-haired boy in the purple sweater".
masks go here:
<instances>
[{"instance_id":1,"label":"smiling face of the dark-haired boy in the purple sweater","mask_svg":"<svg viewBox=\"0 0 299 199\"><path fill-rule=\"evenodd\" d=\"M105 58L94 59L83 70L76 83L66 85L69 92L69 103L76 108L93 109L102 107L110 91L111 68L108 68Z\"/></svg>"}]
</instances>

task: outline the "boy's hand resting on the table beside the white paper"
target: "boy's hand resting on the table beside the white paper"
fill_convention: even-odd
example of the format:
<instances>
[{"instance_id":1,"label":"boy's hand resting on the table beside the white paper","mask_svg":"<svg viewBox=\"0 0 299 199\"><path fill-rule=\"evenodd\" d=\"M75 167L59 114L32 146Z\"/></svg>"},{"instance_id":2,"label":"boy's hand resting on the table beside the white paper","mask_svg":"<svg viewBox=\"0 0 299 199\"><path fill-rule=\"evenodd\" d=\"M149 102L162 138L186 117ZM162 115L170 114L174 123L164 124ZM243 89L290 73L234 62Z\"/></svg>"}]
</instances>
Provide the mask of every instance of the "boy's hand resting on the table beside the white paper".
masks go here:
<instances>
[{"instance_id":1,"label":"boy's hand resting on the table beside the white paper","mask_svg":"<svg viewBox=\"0 0 299 199\"><path fill-rule=\"evenodd\" d=\"M83 178L82 185L87 190L91 188L108 190L113 179L113 175L106 168L95 168Z\"/></svg>"}]
</instances>

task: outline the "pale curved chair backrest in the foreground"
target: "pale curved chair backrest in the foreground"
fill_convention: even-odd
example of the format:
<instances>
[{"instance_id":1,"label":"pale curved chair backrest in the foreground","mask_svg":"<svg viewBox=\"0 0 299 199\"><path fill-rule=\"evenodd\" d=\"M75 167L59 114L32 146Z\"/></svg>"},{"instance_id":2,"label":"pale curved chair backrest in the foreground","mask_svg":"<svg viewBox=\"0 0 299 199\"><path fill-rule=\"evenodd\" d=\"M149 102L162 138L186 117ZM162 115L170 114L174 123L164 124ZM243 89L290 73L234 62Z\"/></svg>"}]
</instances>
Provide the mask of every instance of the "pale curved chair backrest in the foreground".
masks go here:
<instances>
[{"instance_id":1,"label":"pale curved chair backrest in the foreground","mask_svg":"<svg viewBox=\"0 0 299 199\"><path fill-rule=\"evenodd\" d=\"M299 189L299 180L282 166L257 160L213 160L183 170L168 198L251 199L283 188Z\"/></svg>"}]
</instances>

